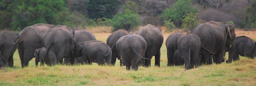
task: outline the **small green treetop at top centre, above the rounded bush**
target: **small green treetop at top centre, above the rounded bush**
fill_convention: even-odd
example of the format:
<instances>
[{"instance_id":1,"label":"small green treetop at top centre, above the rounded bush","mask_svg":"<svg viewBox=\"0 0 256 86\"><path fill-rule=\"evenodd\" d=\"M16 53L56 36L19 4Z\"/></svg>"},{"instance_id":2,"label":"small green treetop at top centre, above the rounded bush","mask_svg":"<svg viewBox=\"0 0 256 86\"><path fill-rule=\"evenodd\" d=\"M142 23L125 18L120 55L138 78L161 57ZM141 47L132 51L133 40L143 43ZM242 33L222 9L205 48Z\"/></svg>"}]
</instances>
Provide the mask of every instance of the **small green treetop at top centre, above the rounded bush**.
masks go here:
<instances>
[{"instance_id":1,"label":"small green treetop at top centre, above the rounded bush","mask_svg":"<svg viewBox=\"0 0 256 86\"><path fill-rule=\"evenodd\" d=\"M133 13L138 13L139 12L139 6L133 2L133 1L128 1L124 5L121 6L123 9L129 9Z\"/></svg>"}]
</instances>

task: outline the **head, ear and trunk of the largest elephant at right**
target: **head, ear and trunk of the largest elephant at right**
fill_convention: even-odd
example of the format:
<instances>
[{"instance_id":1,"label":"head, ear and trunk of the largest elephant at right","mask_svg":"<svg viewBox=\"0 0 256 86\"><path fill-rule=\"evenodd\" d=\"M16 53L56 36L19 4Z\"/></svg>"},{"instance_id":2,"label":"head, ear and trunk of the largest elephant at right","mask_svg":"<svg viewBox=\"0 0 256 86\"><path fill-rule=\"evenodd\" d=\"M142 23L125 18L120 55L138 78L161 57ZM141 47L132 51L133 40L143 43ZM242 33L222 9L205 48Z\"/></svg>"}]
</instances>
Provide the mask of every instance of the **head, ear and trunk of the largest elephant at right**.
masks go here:
<instances>
[{"instance_id":1,"label":"head, ear and trunk of the largest elephant at right","mask_svg":"<svg viewBox=\"0 0 256 86\"><path fill-rule=\"evenodd\" d=\"M228 60L226 61L227 63L231 63L233 60L233 55L235 51L235 26L231 24L225 24L224 25L227 33L227 42L226 42L226 47L228 47Z\"/></svg>"}]
</instances>

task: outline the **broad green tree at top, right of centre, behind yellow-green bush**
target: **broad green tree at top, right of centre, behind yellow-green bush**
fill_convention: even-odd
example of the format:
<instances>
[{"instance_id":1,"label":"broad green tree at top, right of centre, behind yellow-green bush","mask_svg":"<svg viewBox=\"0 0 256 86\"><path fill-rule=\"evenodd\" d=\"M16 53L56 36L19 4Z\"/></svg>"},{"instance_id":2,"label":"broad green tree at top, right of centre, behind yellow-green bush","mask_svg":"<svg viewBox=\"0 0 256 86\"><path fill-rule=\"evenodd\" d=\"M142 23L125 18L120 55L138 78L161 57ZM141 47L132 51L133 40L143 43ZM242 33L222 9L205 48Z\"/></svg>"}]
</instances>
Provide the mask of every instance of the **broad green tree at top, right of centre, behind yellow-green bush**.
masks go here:
<instances>
[{"instance_id":1,"label":"broad green tree at top, right of centre, behind yellow-green bush","mask_svg":"<svg viewBox=\"0 0 256 86\"><path fill-rule=\"evenodd\" d=\"M184 19L184 15L187 13L197 13L197 9L193 7L191 0L178 0L175 4L173 4L172 8L166 9L162 15L159 17L164 20L169 20L173 22L182 24L182 20Z\"/></svg>"}]
</instances>

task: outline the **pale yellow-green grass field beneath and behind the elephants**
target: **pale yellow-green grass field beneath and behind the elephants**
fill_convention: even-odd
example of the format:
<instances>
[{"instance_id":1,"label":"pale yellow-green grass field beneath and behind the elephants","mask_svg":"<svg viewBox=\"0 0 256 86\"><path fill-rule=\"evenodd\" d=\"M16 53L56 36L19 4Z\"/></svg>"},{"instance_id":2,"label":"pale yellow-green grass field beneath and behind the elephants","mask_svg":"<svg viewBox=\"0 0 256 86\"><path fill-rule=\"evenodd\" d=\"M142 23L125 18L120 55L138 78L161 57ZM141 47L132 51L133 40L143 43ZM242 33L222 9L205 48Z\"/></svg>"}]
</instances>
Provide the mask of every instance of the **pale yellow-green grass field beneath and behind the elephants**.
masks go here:
<instances>
[{"instance_id":1,"label":"pale yellow-green grass field beneath and behind the elephants","mask_svg":"<svg viewBox=\"0 0 256 86\"><path fill-rule=\"evenodd\" d=\"M110 33L93 33L97 40L106 42ZM0 86L3 85L256 85L256 59L240 57L240 61L231 64L203 65L199 68L185 70L184 66L167 67L165 40L171 33L164 33L164 44L161 48L161 66L139 67L138 71L127 71L125 67L92 65L53 67L35 67L35 59L29 67L21 68L19 54L14 53L14 67L0 70ZM246 35L256 39L255 32L236 30L237 36ZM227 54L226 54L227 56ZM116 64L119 64L117 61ZM182 74L182 75L181 75Z\"/></svg>"}]
</instances>

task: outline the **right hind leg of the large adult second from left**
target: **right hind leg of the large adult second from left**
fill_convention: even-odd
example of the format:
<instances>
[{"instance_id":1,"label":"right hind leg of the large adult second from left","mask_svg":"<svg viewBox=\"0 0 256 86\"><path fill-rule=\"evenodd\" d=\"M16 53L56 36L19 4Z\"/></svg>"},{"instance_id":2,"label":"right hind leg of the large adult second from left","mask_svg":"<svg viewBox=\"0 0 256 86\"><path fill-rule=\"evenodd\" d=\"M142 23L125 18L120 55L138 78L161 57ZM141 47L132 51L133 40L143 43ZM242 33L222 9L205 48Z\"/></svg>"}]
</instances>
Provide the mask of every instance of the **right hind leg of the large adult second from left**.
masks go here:
<instances>
[{"instance_id":1,"label":"right hind leg of the large adult second from left","mask_svg":"<svg viewBox=\"0 0 256 86\"><path fill-rule=\"evenodd\" d=\"M33 49L33 48L25 49L24 58L23 58L23 68L28 67L28 62L33 59L35 50L36 49Z\"/></svg>"}]
</instances>

